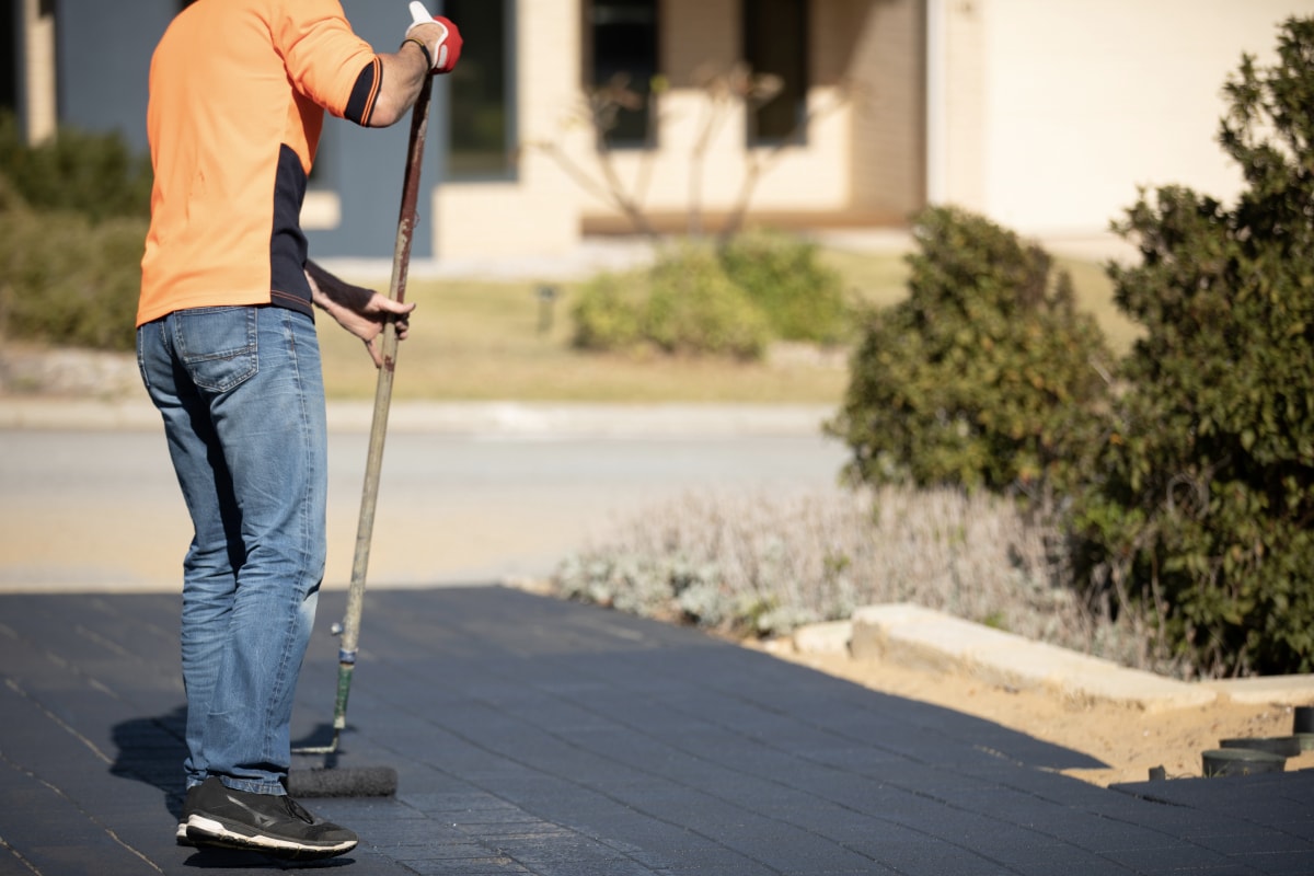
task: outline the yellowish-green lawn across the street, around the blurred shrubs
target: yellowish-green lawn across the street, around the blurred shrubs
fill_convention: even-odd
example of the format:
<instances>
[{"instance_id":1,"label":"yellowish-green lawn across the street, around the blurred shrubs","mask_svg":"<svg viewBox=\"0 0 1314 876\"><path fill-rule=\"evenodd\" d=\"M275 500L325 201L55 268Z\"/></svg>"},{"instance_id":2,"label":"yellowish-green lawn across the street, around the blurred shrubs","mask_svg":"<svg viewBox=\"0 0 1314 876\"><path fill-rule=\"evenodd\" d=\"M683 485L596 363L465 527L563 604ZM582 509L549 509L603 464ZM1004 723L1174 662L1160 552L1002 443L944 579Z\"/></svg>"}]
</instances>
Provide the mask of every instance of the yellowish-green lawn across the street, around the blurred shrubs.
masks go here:
<instances>
[{"instance_id":1,"label":"yellowish-green lawn across the street, around the blurred shrubs","mask_svg":"<svg viewBox=\"0 0 1314 876\"><path fill-rule=\"evenodd\" d=\"M828 264L862 299L887 306L907 294L897 253L828 251ZM1100 320L1116 349L1134 336L1112 303L1102 268L1062 261L1081 305ZM413 278L418 305L398 353L393 397L434 401L757 402L838 405L848 385L844 360L773 356L765 362L599 356L570 348L577 286L562 285L544 331L535 282ZM325 382L332 398L371 398L374 369L360 341L321 318Z\"/></svg>"}]
</instances>

